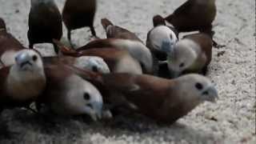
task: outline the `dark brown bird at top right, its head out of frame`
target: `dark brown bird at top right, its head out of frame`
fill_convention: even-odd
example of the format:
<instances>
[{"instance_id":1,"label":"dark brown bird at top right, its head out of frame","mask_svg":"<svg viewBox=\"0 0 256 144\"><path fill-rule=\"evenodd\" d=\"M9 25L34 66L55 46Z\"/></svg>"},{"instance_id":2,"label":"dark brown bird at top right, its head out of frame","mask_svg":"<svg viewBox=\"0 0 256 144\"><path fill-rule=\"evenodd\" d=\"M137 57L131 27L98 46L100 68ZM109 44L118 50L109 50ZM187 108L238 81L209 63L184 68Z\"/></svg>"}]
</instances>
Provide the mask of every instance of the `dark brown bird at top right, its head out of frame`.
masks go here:
<instances>
[{"instance_id":1,"label":"dark brown bird at top right, its head out of frame","mask_svg":"<svg viewBox=\"0 0 256 144\"><path fill-rule=\"evenodd\" d=\"M178 32L199 31L209 34L212 38L214 31L212 23L216 17L215 0L187 0L165 19ZM214 42L214 46L218 46Z\"/></svg>"}]
</instances>

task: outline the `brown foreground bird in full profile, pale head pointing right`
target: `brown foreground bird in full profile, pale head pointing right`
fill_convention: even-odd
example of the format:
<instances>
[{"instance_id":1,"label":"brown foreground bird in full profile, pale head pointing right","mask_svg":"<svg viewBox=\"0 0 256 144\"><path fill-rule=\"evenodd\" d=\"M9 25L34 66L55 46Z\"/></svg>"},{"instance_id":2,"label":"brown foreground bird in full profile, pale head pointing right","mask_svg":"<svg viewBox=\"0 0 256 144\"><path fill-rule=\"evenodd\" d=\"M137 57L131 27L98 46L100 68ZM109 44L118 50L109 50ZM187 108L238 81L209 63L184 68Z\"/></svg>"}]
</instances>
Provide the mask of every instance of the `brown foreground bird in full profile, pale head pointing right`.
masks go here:
<instances>
[{"instance_id":1,"label":"brown foreground bird in full profile, pale head pointing right","mask_svg":"<svg viewBox=\"0 0 256 144\"><path fill-rule=\"evenodd\" d=\"M213 83L198 74L172 80L146 74L95 74L75 70L102 91L104 102L145 114L158 122L173 123L200 103L215 102Z\"/></svg>"}]
</instances>

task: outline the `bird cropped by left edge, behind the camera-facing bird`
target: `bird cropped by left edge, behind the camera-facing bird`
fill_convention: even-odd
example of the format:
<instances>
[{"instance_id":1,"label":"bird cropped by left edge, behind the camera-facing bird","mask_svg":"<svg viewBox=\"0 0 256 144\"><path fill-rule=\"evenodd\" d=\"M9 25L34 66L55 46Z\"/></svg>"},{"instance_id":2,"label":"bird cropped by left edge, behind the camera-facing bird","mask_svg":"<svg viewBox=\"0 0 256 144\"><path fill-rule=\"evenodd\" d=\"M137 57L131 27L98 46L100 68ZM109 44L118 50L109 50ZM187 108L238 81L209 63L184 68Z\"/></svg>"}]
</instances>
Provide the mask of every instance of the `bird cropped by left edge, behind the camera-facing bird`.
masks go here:
<instances>
[{"instance_id":1,"label":"bird cropped by left edge, behind the camera-facing bird","mask_svg":"<svg viewBox=\"0 0 256 144\"><path fill-rule=\"evenodd\" d=\"M0 62L2 66L11 66L15 63L14 56L19 50L25 49L18 39L6 30L6 22L0 18Z\"/></svg>"}]
</instances>

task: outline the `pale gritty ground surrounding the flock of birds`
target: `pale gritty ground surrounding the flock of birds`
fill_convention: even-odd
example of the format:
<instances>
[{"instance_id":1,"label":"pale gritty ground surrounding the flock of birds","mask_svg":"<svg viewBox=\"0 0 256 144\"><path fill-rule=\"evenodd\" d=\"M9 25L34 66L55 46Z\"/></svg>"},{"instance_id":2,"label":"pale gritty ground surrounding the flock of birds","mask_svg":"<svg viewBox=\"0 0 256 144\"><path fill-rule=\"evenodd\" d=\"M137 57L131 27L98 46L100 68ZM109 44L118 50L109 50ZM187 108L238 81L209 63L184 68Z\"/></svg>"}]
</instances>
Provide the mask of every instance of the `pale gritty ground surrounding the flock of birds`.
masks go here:
<instances>
[{"instance_id":1,"label":"pale gritty ground surrounding the flock of birds","mask_svg":"<svg viewBox=\"0 0 256 144\"><path fill-rule=\"evenodd\" d=\"M64 0L55 1L62 10ZM109 18L145 42L154 14L166 16L182 2L185 0L98 0L94 25L104 38L100 19ZM0 143L255 143L255 1L217 0L217 7L214 39L226 47L214 49L207 75L218 87L216 104L198 106L172 126L157 126L141 118L119 122L54 118L57 125L52 126L25 110L5 110L3 118L17 135ZM29 0L0 0L0 17L25 46L29 10ZM88 28L73 35L78 46L90 40ZM36 47L44 55L54 54L50 45Z\"/></svg>"}]
</instances>

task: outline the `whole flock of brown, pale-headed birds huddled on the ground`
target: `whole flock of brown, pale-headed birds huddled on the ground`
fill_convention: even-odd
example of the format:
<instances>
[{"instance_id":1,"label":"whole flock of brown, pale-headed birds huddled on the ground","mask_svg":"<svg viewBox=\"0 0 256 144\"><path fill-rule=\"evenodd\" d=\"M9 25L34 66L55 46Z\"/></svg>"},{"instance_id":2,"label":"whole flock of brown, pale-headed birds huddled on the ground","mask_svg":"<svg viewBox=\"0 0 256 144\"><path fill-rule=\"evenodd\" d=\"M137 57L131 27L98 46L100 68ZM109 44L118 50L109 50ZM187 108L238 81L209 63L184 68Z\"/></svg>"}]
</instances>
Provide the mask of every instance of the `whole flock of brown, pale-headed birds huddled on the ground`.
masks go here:
<instances>
[{"instance_id":1,"label":"whole flock of brown, pale-headed birds huddled on the ground","mask_svg":"<svg viewBox=\"0 0 256 144\"><path fill-rule=\"evenodd\" d=\"M172 124L200 103L216 102L218 91L204 76L219 46L212 30L215 0L188 0L166 18L155 15L146 43L107 18L101 21L106 38L98 38L96 7L96 0L66 0L61 13L54 0L31 0L29 48L0 18L1 113L23 107L98 121L128 110ZM62 42L62 22L69 46ZM71 30L86 26L94 40L74 49ZM52 43L57 55L42 57L33 49L38 43ZM1 119L1 134L7 134Z\"/></svg>"}]
</instances>

